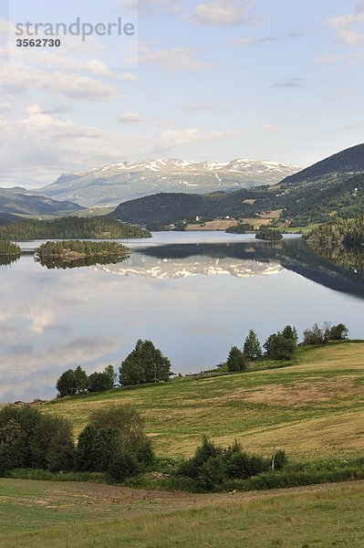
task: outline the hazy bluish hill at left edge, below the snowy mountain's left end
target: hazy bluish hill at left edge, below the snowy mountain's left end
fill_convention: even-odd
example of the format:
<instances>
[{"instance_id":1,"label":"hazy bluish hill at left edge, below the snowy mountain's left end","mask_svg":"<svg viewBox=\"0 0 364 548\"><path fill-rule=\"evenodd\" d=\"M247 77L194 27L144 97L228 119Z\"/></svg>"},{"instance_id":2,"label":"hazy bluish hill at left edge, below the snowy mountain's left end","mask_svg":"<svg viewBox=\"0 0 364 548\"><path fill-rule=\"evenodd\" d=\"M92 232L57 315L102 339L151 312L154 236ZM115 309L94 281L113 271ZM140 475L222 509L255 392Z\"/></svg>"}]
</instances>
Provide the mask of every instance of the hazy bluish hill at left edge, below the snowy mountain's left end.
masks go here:
<instances>
[{"instance_id":1,"label":"hazy bluish hill at left edge, below the snowy mountain's left end","mask_svg":"<svg viewBox=\"0 0 364 548\"><path fill-rule=\"evenodd\" d=\"M62 215L83 209L73 202L60 202L46 196L28 195L14 192L14 189L0 189L0 214L43 216Z\"/></svg>"}]
</instances>

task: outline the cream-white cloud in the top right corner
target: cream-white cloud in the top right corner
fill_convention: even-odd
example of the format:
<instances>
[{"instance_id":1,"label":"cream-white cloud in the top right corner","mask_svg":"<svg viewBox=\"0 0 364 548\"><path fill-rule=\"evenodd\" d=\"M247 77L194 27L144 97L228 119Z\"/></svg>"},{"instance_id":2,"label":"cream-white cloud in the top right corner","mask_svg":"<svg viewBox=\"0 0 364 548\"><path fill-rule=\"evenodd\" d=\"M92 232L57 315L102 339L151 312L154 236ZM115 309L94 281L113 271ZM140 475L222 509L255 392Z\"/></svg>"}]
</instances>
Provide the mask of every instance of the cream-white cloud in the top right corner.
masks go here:
<instances>
[{"instance_id":1,"label":"cream-white cloud in the top right corner","mask_svg":"<svg viewBox=\"0 0 364 548\"><path fill-rule=\"evenodd\" d=\"M357 0L352 14L333 17L328 21L338 40L348 47L364 44L364 1Z\"/></svg>"}]
</instances>

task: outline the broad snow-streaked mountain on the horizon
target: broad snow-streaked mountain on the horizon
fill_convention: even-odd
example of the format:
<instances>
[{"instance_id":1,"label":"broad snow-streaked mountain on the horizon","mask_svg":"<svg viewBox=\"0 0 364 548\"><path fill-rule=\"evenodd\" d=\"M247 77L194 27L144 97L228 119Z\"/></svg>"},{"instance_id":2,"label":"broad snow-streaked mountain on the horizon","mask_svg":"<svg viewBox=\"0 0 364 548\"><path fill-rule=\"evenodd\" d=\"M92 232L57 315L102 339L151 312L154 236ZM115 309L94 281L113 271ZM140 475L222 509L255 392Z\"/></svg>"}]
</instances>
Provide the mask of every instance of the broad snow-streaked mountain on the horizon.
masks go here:
<instances>
[{"instance_id":1,"label":"broad snow-streaked mountain on the horizon","mask_svg":"<svg viewBox=\"0 0 364 548\"><path fill-rule=\"evenodd\" d=\"M300 170L276 162L234 160L230 163L159 159L112 163L83 174L64 174L34 191L86 207L114 206L160 192L207 194L276 184Z\"/></svg>"}]
</instances>

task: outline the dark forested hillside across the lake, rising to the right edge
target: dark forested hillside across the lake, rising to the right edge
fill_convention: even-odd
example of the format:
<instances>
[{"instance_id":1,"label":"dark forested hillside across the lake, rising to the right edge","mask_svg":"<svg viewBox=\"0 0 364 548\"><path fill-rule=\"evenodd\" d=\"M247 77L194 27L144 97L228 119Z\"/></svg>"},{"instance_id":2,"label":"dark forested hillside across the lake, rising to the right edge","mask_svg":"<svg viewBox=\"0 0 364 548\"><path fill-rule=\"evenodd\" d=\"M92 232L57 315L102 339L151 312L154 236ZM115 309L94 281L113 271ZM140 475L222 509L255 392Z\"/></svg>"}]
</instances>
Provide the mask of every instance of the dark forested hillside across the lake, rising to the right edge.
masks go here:
<instances>
[{"instance_id":1,"label":"dark forested hillside across the lake, rising to the right edge","mask_svg":"<svg viewBox=\"0 0 364 548\"><path fill-rule=\"evenodd\" d=\"M211 194L161 193L120 204L110 214L125 222L162 227L215 217L252 218L276 211L294 226L364 213L364 144L334 154L278 184Z\"/></svg>"}]
</instances>

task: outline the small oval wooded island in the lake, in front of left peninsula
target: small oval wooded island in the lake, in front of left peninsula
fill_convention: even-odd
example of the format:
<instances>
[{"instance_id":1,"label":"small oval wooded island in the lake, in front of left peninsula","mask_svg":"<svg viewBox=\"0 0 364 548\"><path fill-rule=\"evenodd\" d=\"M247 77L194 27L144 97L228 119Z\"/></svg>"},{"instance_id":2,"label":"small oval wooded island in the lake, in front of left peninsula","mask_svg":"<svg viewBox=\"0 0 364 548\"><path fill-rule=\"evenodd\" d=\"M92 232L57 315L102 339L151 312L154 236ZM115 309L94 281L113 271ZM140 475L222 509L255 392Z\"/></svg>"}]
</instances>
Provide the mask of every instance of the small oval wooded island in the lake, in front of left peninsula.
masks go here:
<instances>
[{"instance_id":1,"label":"small oval wooded island in the lake, in front of left peninsula","mask_svg":"<svg viewBox=\"0 0 364 548\"><path fill-rule=\"evenodd\" d=\"M129 248L116 242L93 242L68 240L47 242L36 249L36 257L41 261L49 258L71 262L83 258L126 258Z\"/></svg>"}]
</instances>

